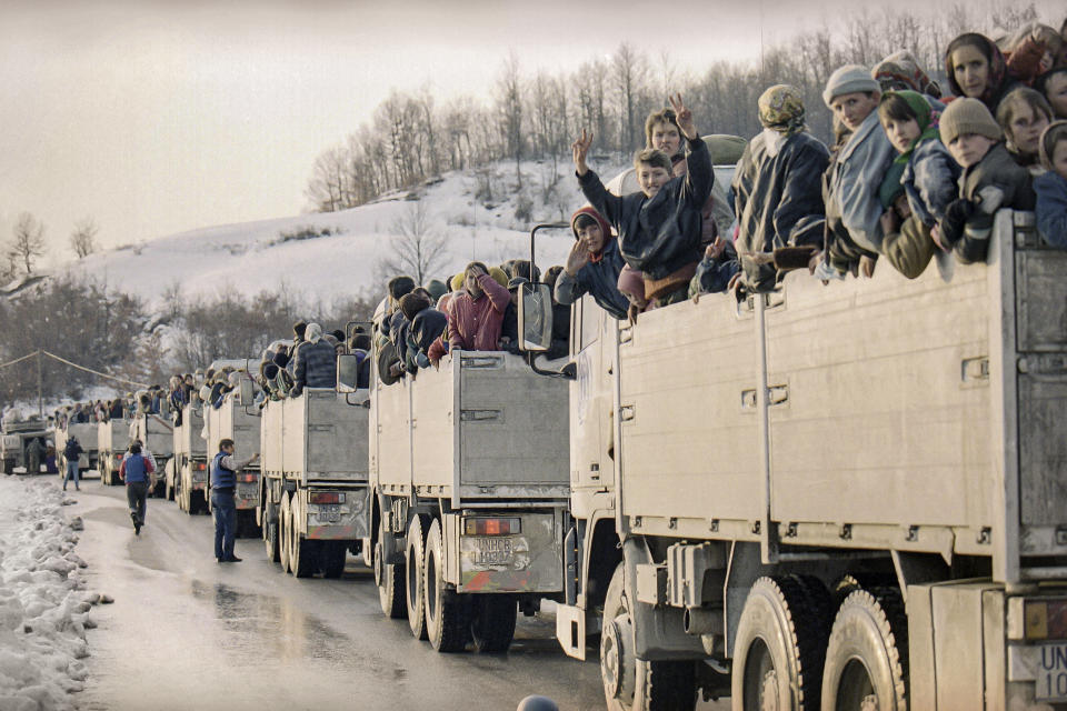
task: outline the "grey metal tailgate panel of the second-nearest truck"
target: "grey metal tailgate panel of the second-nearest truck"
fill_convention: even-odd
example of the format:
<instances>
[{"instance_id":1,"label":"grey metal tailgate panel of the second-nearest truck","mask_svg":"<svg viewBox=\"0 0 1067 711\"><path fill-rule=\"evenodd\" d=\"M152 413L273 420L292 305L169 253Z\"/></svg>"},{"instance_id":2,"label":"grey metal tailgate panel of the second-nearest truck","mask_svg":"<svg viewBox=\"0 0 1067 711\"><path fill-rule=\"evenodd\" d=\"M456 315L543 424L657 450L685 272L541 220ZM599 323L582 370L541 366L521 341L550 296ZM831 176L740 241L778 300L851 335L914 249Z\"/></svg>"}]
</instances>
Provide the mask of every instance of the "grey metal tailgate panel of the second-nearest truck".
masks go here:
<instances>
[{"instance_id":1,"label":"grey metal tailgate panel of the second-nearest truck","mask_svg":"<svg viewBox=\"0 0 1067 711\"><path fill-rule=\"evenodd\" d=\"M512 492L523 485L566 487L570 481L567 390L566 380L538 375L517 356L462 353L457 423L460 484L507 487ZM421 411L419 417L421 427Z\"/></svg>"}]
</instances>

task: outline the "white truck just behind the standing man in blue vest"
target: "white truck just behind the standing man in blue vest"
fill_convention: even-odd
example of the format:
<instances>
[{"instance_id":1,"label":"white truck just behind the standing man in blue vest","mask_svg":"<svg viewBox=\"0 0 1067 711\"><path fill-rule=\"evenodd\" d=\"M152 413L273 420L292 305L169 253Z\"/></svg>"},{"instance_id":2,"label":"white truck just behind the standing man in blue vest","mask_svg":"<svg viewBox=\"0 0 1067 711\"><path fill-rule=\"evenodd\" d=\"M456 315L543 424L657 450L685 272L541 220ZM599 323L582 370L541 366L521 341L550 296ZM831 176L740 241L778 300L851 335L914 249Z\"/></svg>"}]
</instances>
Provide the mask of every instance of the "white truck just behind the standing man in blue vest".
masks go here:
<instances>
[{"instance_id":1,"label":"white truck just behind the standing man in blue vest","mask_svg":"<svg viewBox=\"0 0 1067 711\"><path fill-rule=\"evenodd\" d=\"M251 385L250 380L242 382ZM207 503L211 511L211 460L219 451L219 442L223 439L233 440L238 459L245 459L260 449L260 423L262 421L258 410L253 410L253 393L250 388L245 392L235 390L222 398L222 404L216 409L209 405L203 408L203 419L207 422L205 431L208 433L206 442L207 462ZM260 462L256 461L242 469L237 475L237 488L233 491L233 502L237 505L237 531L239 535L259 535L257 508L260 502Z\"/></svg>"}]
</instances>

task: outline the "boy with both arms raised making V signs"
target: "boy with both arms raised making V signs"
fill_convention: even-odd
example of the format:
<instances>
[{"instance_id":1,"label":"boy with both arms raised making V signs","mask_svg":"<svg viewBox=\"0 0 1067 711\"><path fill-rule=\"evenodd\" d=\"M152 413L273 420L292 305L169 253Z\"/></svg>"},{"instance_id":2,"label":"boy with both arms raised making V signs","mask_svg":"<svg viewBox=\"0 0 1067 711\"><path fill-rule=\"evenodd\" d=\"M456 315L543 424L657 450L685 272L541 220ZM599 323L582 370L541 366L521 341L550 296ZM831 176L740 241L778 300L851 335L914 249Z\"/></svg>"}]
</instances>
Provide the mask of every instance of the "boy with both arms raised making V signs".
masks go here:
<instances>
[{"instance_id":1,"label":"boy with both arms raised making V signs","mask_svg":"<svg viewBox=\"0 0 1067 711\"><path fill-rule=\"evenodd\" d=\"M645 150L634 159L641 192L612 196L586 164L592 134L582 130L571 146L582 194L616 229L622 259L645 273L645 298L658 306L688 296L689 280L700 261L701 211L715 182L711 157L692 122L692 113L680 96L670 100L690 151L684 178L671 178L666 153Z\"/></svg>"}]
</instances>

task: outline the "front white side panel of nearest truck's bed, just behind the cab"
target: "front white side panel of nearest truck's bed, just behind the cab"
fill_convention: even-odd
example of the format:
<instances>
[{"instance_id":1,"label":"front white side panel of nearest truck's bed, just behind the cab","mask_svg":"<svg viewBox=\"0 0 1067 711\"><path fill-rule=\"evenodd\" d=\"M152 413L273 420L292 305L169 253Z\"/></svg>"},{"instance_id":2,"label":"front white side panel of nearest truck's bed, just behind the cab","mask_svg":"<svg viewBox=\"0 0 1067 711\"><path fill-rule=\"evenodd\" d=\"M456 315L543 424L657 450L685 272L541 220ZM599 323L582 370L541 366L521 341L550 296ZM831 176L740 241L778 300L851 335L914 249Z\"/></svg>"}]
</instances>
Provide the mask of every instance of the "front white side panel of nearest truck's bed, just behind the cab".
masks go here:
<instances>
[{"instance_id":1,"label":"front white side panel of nearest truck's bed, just behind the cab","mask_svg":"<svg viewBox=\"0 0 1067 711\"><path fill-rule=\"evenodd\" d=\"M620 346L625 514L761 518L755 321L735 308L648 311Z\"/></svg>"}]
</instances>

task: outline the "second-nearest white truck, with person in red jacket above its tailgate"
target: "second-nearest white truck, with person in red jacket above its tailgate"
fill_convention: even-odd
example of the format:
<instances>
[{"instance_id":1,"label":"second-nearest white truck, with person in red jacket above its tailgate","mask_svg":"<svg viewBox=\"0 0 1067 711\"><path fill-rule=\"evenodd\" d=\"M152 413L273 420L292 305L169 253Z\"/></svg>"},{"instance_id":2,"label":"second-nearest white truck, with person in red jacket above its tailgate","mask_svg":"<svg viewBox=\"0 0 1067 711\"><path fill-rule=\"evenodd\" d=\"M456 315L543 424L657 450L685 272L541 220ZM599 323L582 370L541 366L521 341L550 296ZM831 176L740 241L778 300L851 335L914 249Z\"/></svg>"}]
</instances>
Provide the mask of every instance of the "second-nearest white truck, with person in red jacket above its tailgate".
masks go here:
<instances>
[{"instance_id":1,"label":"second-nearest white truck, with person in red jacket above its tailgate","mask_svg":"<svg viewBox=\"0 0 1067 711\"><path fill-rule=\"evenodd\" d=\"M372 375L370 562L387 615L441 652L502 651L517 609L558 599L567 421L567 383L502 351L457 351L389 385Z\"/></svg>"}]
</instances>

